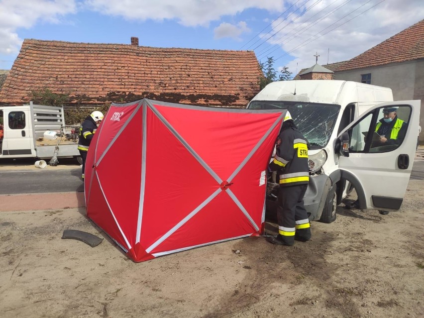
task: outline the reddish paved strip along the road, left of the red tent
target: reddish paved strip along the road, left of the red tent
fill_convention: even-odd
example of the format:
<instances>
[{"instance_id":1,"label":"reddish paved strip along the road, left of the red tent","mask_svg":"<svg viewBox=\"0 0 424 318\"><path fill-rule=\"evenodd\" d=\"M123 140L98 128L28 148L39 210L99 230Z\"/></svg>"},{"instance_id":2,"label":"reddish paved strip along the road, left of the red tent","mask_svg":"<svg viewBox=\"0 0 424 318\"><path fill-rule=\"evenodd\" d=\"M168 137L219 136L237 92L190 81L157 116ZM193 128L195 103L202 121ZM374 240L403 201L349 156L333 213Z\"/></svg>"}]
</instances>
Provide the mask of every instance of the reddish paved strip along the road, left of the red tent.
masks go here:
<instances>
[{"instance_id":1,"label":"reddish paved strip along the road, left of the red tent","mask_svg":"<svg viewBox=\"0 0 424 318\"><path fill-rule=\"evenodd\" d=\"M84 192L0 195L0 212L85 207Z\"/></svg>"}]
</instances>

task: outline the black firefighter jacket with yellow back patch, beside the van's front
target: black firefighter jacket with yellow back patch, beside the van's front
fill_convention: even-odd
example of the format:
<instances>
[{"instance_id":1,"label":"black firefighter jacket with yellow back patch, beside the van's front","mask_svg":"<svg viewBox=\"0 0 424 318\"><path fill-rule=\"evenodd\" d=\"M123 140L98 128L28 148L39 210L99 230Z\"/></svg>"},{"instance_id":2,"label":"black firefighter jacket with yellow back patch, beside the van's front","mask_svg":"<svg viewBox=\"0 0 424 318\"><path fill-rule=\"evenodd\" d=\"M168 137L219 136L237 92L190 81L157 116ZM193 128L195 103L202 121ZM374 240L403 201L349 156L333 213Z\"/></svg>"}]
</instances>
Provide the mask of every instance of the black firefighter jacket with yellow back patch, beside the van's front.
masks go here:
<instances>
[{"instance_id":1,"label":"black firefighter jacket with yellow back patch, beside the van's front","mask_svg":"<svg viewBox=\"0 0 424 318\"><path fill-rule=\"evenodd\" d=\"M269 168L278 171L280 186L294 186L309 183L308 142L295 124L289 124L280 131L276 153Z\"/></svg>"}]
</instances>

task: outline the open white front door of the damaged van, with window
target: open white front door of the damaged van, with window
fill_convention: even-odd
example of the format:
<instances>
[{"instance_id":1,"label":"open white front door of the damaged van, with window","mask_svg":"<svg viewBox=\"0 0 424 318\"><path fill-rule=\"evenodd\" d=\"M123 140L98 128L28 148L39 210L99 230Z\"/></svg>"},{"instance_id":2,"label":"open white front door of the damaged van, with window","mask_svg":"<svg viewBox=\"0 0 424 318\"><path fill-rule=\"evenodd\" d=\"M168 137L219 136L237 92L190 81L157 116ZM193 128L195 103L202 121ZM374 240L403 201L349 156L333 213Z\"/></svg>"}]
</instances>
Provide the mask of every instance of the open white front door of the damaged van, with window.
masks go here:
<instances>
[{"instance_id":1,"label":"open white front door of the damaged van, with window","mask_svg":"<svg viewBox=\"0 0 424 318\"><path fill-rule=\"evenodd\" d=\"M340 132L336 150L340 154L341 178L355 187L360 209L400 209L415 158L420 107L421 101L382 103ZM380 129L383 109L386 112L395 109L392 115L397 115L398 123L389 135ZM347 137L344 132L349 144L345 142L343 149L341 139Z\"/></svg>"}]
</instances>

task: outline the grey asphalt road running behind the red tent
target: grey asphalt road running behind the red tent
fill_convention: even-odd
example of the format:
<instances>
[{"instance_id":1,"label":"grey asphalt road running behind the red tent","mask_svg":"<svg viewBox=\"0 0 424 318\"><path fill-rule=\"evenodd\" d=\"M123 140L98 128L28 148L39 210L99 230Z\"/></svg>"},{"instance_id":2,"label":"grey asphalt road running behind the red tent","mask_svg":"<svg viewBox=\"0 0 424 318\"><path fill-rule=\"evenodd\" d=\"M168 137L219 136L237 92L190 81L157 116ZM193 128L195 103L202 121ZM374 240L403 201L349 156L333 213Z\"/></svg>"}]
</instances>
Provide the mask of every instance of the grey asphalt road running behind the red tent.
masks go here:
<instances>
[{"instance_id":1,"label":"grey asphalt road running behind the red tent","mask_svg":"<svg viewBox=\"0 0 424 318\"><path fill-rule=\"evenodd\" d=\"M13 166L0 160L0 195L84 192L81 167L75 160L64 160L57 167L35 168L33 159L13 162ZM415 160L411 179L424 179L424 160Z\"/></svg>"}]
</instances>

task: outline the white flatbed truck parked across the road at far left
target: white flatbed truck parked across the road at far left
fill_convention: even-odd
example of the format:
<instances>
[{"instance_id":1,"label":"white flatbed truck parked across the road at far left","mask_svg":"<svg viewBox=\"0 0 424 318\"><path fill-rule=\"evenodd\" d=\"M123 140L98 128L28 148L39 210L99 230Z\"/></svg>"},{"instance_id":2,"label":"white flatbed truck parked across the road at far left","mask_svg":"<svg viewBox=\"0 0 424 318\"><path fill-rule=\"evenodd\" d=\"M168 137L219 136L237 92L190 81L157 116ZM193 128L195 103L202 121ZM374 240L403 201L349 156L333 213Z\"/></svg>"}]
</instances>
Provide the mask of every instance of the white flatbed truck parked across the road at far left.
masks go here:
<instances>
[{"instance_id":1,"label":"white flatbed truck parked across the road at far left","mask_svg":"<svg viewBox=\"0 0 424 318\"><path fill-rule=\"evenodd\" d=\"M3 137L0 158L76 158L79 126L67 126L63 107L43 105L0 106ZM55 154L56 152L56 154ZM53 160L52 160L53 159ZM56 164L55 164L56 162Z\"/></svg>"}]
</instances>

